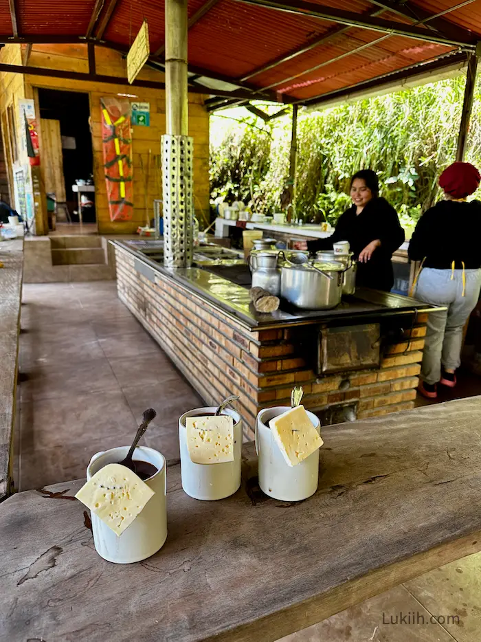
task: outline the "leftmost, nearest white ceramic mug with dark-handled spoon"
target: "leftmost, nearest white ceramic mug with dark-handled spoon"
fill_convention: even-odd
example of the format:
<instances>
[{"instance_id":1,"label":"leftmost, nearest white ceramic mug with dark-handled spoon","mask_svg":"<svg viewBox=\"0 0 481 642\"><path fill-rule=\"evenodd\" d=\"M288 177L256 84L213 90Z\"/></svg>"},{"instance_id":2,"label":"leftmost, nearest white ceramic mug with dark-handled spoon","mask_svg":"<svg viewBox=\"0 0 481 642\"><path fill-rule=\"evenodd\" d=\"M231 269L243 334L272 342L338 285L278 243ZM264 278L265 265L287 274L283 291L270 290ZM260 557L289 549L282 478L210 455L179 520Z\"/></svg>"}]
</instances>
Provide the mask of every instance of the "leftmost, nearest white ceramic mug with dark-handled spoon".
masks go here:
<instances>
[{"instance_id":1,"label":"leftmost, nearest white ceramic mug with dark-handled spoon","mask_svg":"<svg viewBox=\"0 0 481 642\"><path fill-rule=\"evenodd\" d=\"M120 446L93 455L87 467L87 481L107 464L122 461L127 456L128 449L129 446ZM115 535L107 524L91 512L96 551L104 560L115 564L131 564L145 560L157 553L167 538L167 476L164 455L153 448L137 446L133 458L148 461L157 468L155 475L145 480L146 485L155 491L155 495L148 500L144 509L122 535Z\"/></svg>"}]
</instances>

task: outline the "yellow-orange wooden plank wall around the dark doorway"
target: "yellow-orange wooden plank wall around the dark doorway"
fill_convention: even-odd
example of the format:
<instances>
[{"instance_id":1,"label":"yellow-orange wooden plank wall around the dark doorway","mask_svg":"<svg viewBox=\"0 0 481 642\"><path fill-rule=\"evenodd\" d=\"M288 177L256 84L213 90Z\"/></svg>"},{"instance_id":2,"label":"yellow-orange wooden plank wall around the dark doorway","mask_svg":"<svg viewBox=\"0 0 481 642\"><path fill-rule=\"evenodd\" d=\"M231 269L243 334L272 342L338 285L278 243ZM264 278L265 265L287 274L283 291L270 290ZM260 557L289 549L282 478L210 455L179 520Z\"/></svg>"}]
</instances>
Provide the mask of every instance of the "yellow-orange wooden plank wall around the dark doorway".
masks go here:
<instances>
[{"instance_id":1,"label":"yellow-orange wooden plank wall around the dark doorway","mask_svg":"<svg viewBox=\"0 0 481 642\"><path fill-rule=\"evenodd\" d=\"M16 47L16 62L21 64L21 49L19 45L6 45L4 49ZM0 56L1 56L0 52ZM3 62L10 62L4 56ZM13 63L13 61L12 61ZM29 65L48 69L69 69L71 71L87 72L87 45L34 45L30 54ZM96 47L97 73L107 76L126 76L125 60L118 52L105 47ZM154 170L154 157L160 155L160 137L165 133L165 92L157 89L131 87L127 82L120 85L107 83L65 80L60 78L44 78L43 76L23 76L7 74L12 77L14 91L25 93L25 98L35 98L35 88L63 89L80 91L89 94L91 109L91 131L93 140L93 168L96 184L96 211L100 234L131 234L138 225L145 224L145 180L142 165L148 164L149 150L151 151L152 166L147 187L148 208L152 212L152 201L161 198L161 174ZM144 68L139 78L163 82L164 75L160 71ZM105 187L100 98L117 96L118 93L135 94L142 102L150 102L150 127L133 127L133 168L134 168L134 218L126 223L111 222L107 204ZM1 101L1 97L0 97ZM0 102L1 106L1 102ZM41 129L41 127L40 127ZM199 221L208 217L209 211L209 116L203 107L203 96L189 95L189 135L194 138L194 207ZM42 143L42 132L39 132ZM42 149L41 149L42 154Z\"/></svg>"}]
</instances>

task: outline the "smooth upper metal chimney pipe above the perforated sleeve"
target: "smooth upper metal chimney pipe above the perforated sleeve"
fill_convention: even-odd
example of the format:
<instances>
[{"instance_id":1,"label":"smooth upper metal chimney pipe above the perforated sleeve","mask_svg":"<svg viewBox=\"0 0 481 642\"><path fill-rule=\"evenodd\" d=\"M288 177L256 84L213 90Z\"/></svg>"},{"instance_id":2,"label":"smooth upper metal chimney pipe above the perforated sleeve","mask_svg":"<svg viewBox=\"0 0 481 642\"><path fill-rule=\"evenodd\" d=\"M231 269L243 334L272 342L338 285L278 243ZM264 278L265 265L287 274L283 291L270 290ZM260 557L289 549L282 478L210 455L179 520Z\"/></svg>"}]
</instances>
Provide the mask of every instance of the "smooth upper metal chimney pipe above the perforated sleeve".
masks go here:
<instances>
[{"instance_id":1,"label":"smooth upper metal chimney pipe above the perforated sleeve","mask_svg":"<svg viewBox=\"0 0 481 642\"><path fill-rule=\"evenodd\" d=\"M187 0L166 0L166 133L188 135Z\"/></svg>"}]
</instances>

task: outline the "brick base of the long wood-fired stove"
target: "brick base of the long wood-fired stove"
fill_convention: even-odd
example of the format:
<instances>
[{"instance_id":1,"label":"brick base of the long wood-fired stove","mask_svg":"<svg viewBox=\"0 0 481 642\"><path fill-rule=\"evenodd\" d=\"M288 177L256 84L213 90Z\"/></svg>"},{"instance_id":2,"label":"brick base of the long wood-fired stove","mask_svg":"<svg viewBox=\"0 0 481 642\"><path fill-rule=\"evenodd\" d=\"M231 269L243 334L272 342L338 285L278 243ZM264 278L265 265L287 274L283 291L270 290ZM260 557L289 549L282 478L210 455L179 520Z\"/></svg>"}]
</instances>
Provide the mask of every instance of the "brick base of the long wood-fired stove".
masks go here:
<instances>
[{"instance_id":1,"label":"brick base of the long wood-fired stove","mask_svg":"<svg viewBox=\"0 0 481 642\"><path fill-rule=\"evenodd\" d=\"M305 326L250 331L168 276L155 272L150 280L137 272L125 250L115 254L120 299L206 403L240 396L247 438L254 438L261 408L290 405L293 384L302 384L302 403L313 411L355 403L364 419L413 408L427 314L402 342L383 348L380 368L318 378L302 351Z\"/></svg>"}]
</instances>

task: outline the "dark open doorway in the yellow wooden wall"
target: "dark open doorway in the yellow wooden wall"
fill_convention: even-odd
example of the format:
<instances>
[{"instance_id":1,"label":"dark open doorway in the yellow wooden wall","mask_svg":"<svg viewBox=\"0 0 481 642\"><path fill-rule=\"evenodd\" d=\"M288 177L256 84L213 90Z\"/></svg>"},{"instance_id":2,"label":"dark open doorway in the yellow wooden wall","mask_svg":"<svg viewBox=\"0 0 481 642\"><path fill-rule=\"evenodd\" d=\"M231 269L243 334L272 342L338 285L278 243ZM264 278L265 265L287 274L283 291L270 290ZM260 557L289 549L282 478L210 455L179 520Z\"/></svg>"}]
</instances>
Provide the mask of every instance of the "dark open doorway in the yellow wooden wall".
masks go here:
<instances>
[{"instance_id":1,"label":"dark open doorway in the yellow wooden wall","mask_svg":"<svg viewBox=\"0 0 481 642\"><path fill-rule=\"evenodd\" d=\"M92 227L96 208L89 94L38 89L38 107L47 209L55 208L60 222Z\"/></svg>"}]
</instances>

